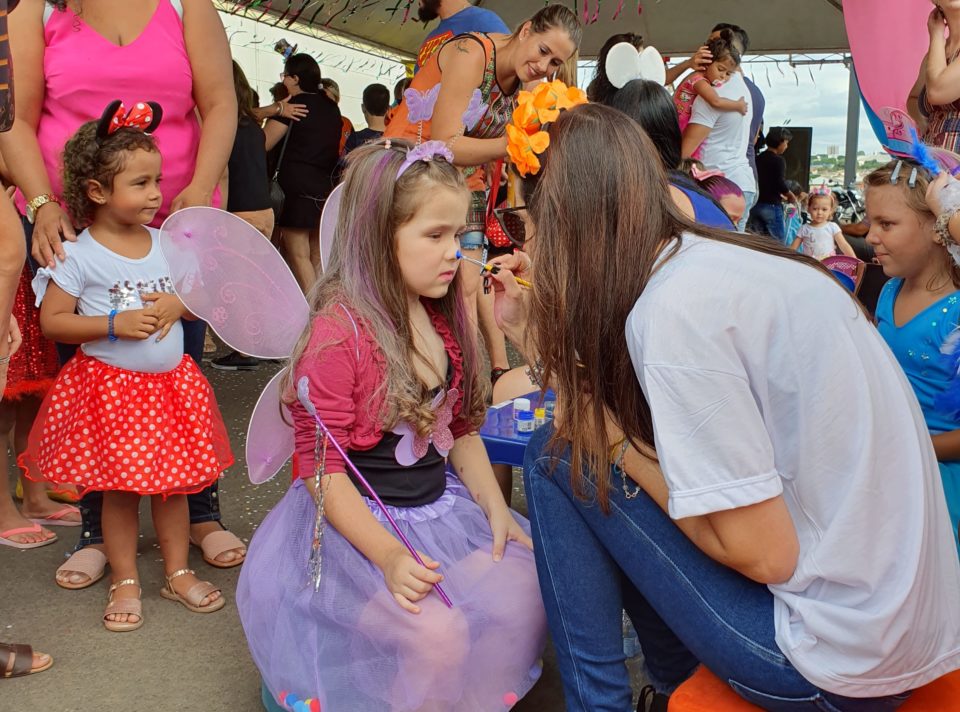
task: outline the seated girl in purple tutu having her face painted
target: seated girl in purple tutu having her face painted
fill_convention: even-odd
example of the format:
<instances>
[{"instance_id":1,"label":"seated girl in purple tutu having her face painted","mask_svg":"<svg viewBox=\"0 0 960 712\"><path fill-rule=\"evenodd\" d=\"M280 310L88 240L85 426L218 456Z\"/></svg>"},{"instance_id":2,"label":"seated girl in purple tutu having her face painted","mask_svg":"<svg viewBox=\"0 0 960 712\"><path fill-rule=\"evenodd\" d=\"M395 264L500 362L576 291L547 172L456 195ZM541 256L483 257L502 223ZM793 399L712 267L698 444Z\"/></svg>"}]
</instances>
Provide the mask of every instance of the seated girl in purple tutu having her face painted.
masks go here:
<instances>
[{"instance_id":1,"label":"seated girl in purple tutu having her face painted","mask_svg":"<svg viewBox=\"0 0 960 712\"><path fill-rule=\"evenodd\" d=\"M528 523L476 433L485 389L457 276L469 191L452 161L441 142L397 139L348 158L288 386L308 392L385 508L332 446L322 454L288 391L299 476L257 529L237 589L268 710L509 709L540 676L546 614Z\"/></svg>"}]
</instances>

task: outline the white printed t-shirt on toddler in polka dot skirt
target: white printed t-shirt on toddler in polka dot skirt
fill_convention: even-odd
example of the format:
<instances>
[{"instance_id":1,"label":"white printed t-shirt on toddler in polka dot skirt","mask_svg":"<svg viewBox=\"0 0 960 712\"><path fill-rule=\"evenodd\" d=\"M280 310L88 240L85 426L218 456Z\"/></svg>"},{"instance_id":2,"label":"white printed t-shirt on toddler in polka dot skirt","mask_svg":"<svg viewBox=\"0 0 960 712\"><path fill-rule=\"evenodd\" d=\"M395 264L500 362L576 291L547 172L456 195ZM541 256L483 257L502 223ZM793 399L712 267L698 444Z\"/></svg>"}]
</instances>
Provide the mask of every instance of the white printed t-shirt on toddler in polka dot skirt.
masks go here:
<instances>
[{"instance_id":1,"label":"white printed t-shirt on toddler in polka dot skirt","mask_svg":"<svg viewBox=\"0 0 960 712\"><path fill-rule=\"evenodd\" d=\"M148 227L153 247L139 260L131 260L108 250L93 239L89 230L77 235L76 242L64 242L67 259L57 261L54 269L37 270L33 291L37 306L43 301L52 279L60 289L77 298L77 312L83 316L106 316L118 312L143 309L140 298L151 292L173 294L170 268L160 252L160 232ZM129 371L164 373L177 367L183 359L183 327L178 320L162 341L154 334L142 341L120 339L111 343L102 338L81 345L88 356Z\"/></svg>"}]
</instances>

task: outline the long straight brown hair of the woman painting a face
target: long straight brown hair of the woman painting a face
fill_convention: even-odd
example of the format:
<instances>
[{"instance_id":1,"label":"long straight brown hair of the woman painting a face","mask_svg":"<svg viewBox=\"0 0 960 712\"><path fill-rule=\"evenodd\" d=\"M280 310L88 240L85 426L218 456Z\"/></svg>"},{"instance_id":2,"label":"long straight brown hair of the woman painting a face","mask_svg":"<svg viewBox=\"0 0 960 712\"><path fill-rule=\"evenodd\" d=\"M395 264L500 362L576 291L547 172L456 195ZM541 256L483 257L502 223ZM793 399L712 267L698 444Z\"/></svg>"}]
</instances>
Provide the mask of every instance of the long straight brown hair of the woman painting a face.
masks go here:
<instances>
[{"instance_id":1,"label":"long straight brown hair of the woman painting a face","mask_svg":"<svg viewBox=\"0 0 960 712\"><path fill-rule=\"evenodd\" d=\"M532 346L556 385L563 413L552 444L569 441L574 491L584 496L584 478L590 477L606 511L606 416L634 445L652 448L654 442L624 325L658 259L670 259L681 235L692 232L829 272L773 240L705 228L684 217L670 198L652 141L616 109L587 104L561 112L549 134L540 175L524 181L538 226Z\"/></svg>"}]
</instances>

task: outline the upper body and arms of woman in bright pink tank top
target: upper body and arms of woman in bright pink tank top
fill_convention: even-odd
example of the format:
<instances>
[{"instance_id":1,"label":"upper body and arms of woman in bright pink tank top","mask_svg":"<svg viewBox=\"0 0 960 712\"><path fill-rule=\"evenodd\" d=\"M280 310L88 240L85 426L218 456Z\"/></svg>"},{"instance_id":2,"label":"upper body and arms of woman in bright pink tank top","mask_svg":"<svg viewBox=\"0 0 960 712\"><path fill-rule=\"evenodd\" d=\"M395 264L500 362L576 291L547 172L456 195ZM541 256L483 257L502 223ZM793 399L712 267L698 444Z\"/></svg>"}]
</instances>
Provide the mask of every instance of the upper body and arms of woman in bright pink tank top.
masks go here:
<instances>
[{"instance_id":1,"label":"upper body and arms of woman in bright pink tank top","mask_svg":"<svg viewBox=\"0 0 960 712\"><path fill-rule=\"evenodd\" d=\"M164 204L210 205L237 125L230 49L210 0L24 0L10 16L17 113L0 150L18 207L59 196L60 154L80 125L114 99L156 101ZM200 118L203 120L201 128ZM41 209L42 207L42 209ZM37 208L33 256L53 267L74 236L54 200Z\"/></svg>"}]
</instances>

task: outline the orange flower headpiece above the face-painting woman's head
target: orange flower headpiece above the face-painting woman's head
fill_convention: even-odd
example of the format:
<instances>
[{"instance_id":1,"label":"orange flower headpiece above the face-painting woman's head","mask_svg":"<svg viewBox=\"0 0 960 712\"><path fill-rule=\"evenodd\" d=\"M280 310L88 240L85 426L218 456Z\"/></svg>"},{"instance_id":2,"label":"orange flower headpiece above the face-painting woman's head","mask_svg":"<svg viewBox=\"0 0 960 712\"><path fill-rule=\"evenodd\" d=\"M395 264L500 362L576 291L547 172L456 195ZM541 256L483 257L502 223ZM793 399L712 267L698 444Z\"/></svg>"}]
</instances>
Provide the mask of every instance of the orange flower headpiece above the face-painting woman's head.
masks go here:
<instances>
[{"instance_id":1,"label":"orange flower headpiece above the face-painting woman's head","mask_svg":"<svg viewBox=\"0 0 960 712\"><path fill-rule=\"evenodd\" d=\"M550 145L546 125L556 121L561 109L587 103L582 89L568 87L557 80L538 84L533 91L522 91L517 108L507 124L507 155L522 176L540 171L539 155Z\"/></svg>"}]
</instances>

